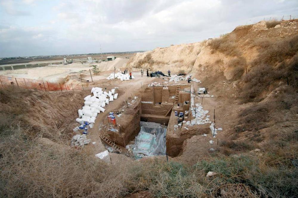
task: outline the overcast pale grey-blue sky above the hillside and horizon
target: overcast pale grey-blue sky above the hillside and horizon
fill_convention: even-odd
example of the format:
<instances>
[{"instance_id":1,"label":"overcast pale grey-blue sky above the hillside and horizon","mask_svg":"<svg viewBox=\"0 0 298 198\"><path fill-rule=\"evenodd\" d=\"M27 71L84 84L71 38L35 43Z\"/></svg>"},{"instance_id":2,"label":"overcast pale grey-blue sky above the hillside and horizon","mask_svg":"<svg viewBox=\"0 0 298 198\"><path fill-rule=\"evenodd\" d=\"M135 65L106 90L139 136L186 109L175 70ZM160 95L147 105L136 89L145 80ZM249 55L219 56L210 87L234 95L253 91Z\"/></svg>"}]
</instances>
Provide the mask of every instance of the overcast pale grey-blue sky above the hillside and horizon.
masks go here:
<instances>
[{"instance_id":1,"label":"overcast pale grey-blue sky above the hillside and horizon","mask_svg":"<svg viewBox=\"0 0 298 198\"><path fill-rule=\"evenodd\" d=\"M0 0L0 57L152 50L283 15L298 0Z\"/></svg>"}]
</instances>

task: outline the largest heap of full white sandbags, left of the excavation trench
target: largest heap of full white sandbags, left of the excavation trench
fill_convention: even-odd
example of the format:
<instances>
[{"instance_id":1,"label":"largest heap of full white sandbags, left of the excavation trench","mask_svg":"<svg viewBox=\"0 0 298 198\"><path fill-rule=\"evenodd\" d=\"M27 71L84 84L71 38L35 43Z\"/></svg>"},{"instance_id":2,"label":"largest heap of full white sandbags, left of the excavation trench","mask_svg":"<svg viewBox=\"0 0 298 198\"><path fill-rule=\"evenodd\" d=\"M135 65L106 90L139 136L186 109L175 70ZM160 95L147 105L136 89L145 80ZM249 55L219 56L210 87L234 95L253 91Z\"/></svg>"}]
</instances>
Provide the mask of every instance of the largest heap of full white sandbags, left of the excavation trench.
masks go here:
<instances>
[{"instance_id":1,"label":"largest heap of full white sandbags, left of the excavation trench","mask_svg":"<svg viewBox=\"0 0 298 198\"><path fill-rule=\"evenodd\" d=\"M118 94L115 93L115 89L108 91L99 87L94 87L91 89L91 93L93 96L86 96L84 98L84 106L77 111L79 118L77 118L76 121L80 124L83 124L84 122L94 123L97 114L105 112L103 107L118 97Z\"/></svg>"}]
</instances>

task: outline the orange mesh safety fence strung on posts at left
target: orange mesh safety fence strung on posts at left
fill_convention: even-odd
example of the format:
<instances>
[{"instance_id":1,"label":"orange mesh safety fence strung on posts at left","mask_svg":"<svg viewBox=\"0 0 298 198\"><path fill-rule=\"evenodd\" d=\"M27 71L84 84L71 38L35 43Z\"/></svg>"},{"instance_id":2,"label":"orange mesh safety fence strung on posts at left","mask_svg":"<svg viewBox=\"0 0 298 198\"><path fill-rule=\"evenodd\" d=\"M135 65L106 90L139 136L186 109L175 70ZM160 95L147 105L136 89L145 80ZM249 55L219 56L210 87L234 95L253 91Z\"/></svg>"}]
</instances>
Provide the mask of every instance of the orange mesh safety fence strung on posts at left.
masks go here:
<instances>
[{"instance_id":1,"label":"orange mesh safety fence strung on posts at left","mask_svg":"<svg viewBox=\"0 0 298 198\"><path fill-rule=\"evenodd\" d=\"M27 78L15 78L0 75L0 87L4 86L18 86L27 89L37 89L41 91L81 91L88 90L89 87L83 87L82 84L61 84L61 83L50 83L43 80L33 80Z\"/></svg>"}]
</instances>

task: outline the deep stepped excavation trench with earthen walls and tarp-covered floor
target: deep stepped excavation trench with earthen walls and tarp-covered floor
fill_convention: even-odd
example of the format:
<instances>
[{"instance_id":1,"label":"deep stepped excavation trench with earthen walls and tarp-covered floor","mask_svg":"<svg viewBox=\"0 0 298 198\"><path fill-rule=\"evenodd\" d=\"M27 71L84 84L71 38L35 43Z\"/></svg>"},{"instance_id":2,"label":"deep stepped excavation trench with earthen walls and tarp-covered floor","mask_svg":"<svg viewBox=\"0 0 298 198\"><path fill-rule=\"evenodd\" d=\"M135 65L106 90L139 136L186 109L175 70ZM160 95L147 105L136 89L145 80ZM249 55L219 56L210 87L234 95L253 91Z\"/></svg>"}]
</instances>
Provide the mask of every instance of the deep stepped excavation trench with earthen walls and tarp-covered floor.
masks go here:
<instances>
[{"instance_id":1,"label":"deep stepped excavation trench with earthen walls and tarp-covered floor","mask_svg":"<svg viewBox=\"0 0 298 198\"><path fill-rule=\"evenodd\" d=\"M189 91L190 85L179 85L178 88ZM178 103L176 103L176 90L177 85L146 88L141 93L141 97L125 109L121 117L116 117L119 132L108 131L111 141L122 148L128 148L127 145L139 145L137 146L139 153L145 155L148 155L150 149L156 149L153 155L165 155L165 153L173 157L181 155L184 141L194 135L208 133L209 127L201 126L199 129L198 127L188 127L185 129L185 126L182 125L181 128L174 131L174 126L178 124L178 117L175 112L178 114L180 112L185 113L190 109L190 93L179 91L176 96ZM184 121L190 120L191 116L185 115ZM141 129L141 125L145 125L147 129L144 127ZM161 132L163 129L164 133ZM152 136L156 136L156 143L152 140ZM143 139L140 140L139 137L143 137ZM147 150L140 149L152 144L153 147Z\"/></svg>"}]
</instances>

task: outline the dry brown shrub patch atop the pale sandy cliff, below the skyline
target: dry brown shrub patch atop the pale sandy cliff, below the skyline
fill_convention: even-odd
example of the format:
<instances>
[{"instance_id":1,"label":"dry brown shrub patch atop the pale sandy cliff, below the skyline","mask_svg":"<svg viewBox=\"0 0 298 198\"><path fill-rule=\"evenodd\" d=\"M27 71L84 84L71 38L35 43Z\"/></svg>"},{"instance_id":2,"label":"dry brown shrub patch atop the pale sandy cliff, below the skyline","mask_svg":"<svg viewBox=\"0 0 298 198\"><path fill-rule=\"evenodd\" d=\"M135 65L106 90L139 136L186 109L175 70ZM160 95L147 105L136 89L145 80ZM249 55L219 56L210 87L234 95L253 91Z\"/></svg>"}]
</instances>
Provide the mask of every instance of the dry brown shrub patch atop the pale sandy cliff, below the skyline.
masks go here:
<instances>
[{"instance_id":1,"label":"dry brown shrub patch atop the pale sandy cliff, below the skyline","mask_svg":"<svg viewBox=\"0 0 298 198\"><path fill-rule=\"evenodd\" d=\"M227 56L241 56L240 50L237 49L236 37L233 34L215 38L209 41L208 45L212 50L224 53Z\"/></svg>"}]
</instances>

